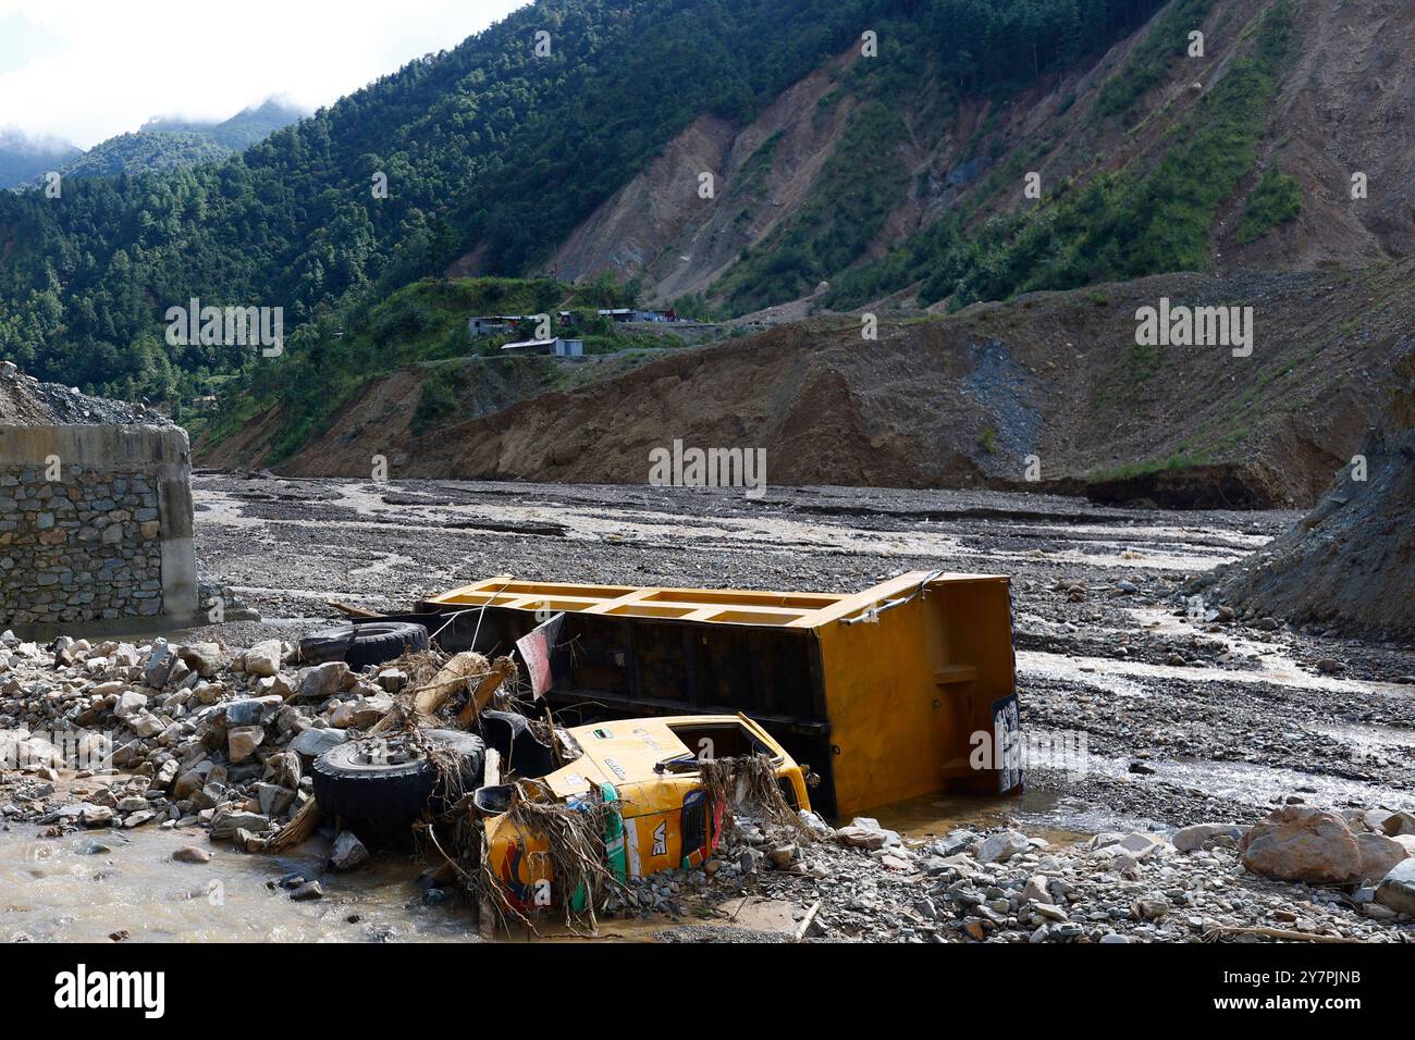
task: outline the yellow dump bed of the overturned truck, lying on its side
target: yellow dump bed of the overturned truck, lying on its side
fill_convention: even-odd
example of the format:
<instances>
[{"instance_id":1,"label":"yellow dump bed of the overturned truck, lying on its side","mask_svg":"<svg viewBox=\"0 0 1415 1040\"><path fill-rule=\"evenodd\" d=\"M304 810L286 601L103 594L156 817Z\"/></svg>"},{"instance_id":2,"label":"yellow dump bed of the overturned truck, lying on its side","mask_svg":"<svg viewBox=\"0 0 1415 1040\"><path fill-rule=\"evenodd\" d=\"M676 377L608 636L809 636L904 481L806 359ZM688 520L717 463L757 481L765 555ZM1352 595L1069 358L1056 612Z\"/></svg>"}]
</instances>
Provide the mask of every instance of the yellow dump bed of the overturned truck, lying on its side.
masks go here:
<instances>
[{"instance_id":1,"label":"yellow dump bed of the overturned truck, lying on its side","mask_svg":"<svg viewBox=\"0 0 1415 1040\"><path fill-rule=\"evenodd\" d=\"M502 574L415 611L398 620L450 652L505 654L549 630L526 665L566 724L741 713L821 778L811 804L831 818L1022 788L1003 576L913 572L832 594Z\"/></svg>"}]
</instances>

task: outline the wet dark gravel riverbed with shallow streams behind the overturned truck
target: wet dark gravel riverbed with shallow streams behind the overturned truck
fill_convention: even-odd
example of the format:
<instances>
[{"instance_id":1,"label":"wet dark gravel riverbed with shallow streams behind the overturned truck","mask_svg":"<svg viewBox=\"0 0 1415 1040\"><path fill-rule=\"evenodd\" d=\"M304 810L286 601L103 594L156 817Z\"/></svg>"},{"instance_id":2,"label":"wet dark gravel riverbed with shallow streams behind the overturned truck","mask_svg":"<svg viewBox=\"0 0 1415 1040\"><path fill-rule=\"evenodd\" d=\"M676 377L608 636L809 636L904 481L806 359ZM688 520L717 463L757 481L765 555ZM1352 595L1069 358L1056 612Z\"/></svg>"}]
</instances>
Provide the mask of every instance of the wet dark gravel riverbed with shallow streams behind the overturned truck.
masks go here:
<instances>
[{"instance_id":1,"label":"wet dark gravel riverbed with shallow streams behind the overturned truck","mask_svg":"<svg viewBox=\"0 0 1415 1040\"><path fill-rule=\"evenodd\" d=\"M1388 808L1402 808L1415 790L1415 685L1401 685L1415 676L1415 652L1281 618L1189 617L1196 574L1261 548L1298 514L1131 511L992 491L771 488L754 501L229 474L198 475L197 509L204 576L263 616L219 630L246 645L330 616L330 596L400 608L498 573L811 591L916 569L1006 573L1023 720L1084 733L1098 765L1039 770L1034 782L1095 818L1254 819L1279 788L1332 808L1387 792Z\"/></svg>"}]
</instances>

